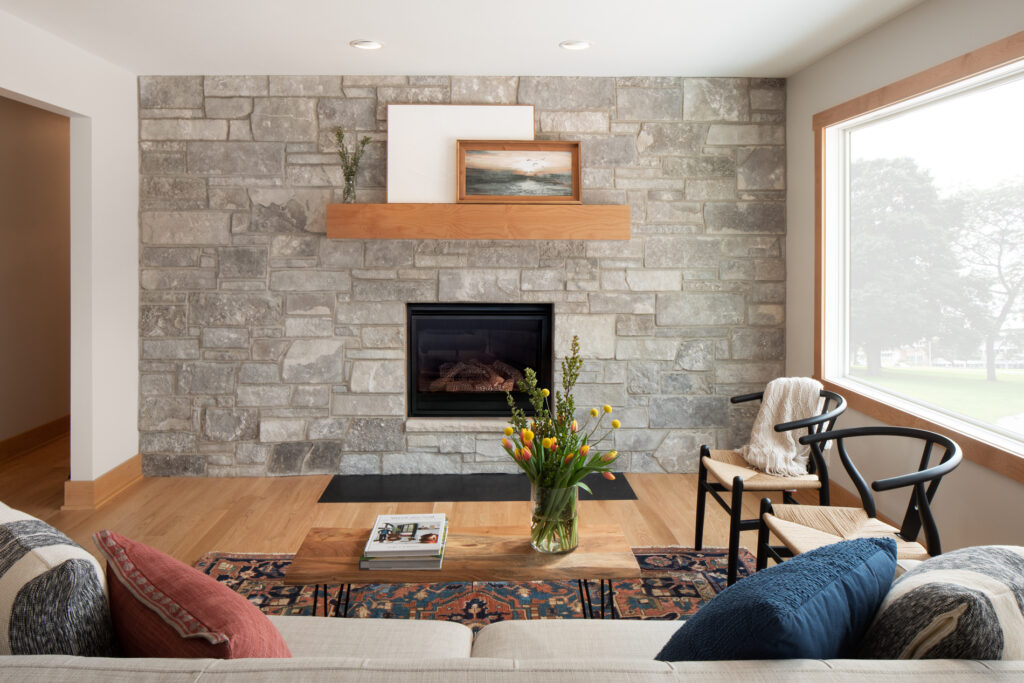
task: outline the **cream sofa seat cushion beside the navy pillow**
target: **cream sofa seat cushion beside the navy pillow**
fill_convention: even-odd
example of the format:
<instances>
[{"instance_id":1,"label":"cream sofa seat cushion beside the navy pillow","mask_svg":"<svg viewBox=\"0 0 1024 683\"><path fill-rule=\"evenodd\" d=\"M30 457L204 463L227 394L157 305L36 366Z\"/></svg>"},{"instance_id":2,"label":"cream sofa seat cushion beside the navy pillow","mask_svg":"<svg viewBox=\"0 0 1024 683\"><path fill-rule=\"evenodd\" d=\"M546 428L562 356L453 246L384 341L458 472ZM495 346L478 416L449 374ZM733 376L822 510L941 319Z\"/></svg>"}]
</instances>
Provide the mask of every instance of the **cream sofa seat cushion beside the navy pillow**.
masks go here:
<instances>
[{"instance_id":1,"label":"cream sofa seat cushion beside the navy pillow","mask_svg":"<svg viewBox=\"0 0 1024 683\"><path fill-rule=\"evenodd\" d=\"M653 658L679 630L679 622L633 620L513 620L483 627L473 641L474 657L549 659Z\"/></svg>"}]
</instances>

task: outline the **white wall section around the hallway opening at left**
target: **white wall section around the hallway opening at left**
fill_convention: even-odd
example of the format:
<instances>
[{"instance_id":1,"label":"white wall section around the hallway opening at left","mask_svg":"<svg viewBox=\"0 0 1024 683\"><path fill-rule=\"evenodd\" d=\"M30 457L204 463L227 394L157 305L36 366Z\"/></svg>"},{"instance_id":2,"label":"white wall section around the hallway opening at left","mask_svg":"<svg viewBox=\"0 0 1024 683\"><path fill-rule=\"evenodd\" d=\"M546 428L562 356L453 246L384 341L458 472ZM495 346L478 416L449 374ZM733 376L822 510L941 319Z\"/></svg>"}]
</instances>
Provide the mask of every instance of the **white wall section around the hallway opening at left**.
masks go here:
<instances>
[{"instance_id":1,"label":"white wall section around the hallway opening at left","mask_svg":"<svg viewBox=\"0 0 1024 683\"><path fill-rule=\"evenodd\" d=\"M0 94L71 117L72 479L138 452L135 76L0 10Z\"/></svg>"}]
</instances>

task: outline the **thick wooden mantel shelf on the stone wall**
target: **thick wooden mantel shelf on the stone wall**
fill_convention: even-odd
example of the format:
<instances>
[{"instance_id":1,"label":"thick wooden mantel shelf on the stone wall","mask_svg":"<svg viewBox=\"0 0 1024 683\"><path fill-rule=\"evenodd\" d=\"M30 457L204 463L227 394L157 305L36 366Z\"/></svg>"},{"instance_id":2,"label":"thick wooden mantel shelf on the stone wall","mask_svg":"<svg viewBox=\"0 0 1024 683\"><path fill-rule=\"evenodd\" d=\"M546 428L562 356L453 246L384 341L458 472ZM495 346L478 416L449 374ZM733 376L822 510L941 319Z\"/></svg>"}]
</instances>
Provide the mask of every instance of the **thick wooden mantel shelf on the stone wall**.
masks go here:
<instances>
[{"instance_id":1,"label":"thick wooden mantel shelf on the stone wall","mask_svg":"<svg viewBox=\"0 0 1024 683\"><path fill-rule=\"evenodd\" d=\"M327 236L355 240L629 240L606 204L328 204Z\"/></svg>"}]
</instances>

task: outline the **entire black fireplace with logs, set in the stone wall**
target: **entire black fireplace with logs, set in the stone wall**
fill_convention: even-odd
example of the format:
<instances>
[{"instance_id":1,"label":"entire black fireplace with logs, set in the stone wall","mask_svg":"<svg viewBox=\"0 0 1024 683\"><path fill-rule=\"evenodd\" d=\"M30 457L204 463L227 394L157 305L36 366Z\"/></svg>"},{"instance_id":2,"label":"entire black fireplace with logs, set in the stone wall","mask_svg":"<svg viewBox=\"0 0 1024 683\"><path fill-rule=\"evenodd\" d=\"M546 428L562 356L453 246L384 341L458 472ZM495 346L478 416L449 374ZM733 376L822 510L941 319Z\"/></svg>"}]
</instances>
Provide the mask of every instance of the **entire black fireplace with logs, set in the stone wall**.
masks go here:
<instances>
[{"instance_id":1,"label":"entire black fireplace with logs, set in the stone wall","mask_svg":"<svg viewBox=\"0 0 1024 683\"><path fill-rule=\"evenodd\" d=\"M551 387L551 304L409 304L409 416L508 416L532 409L523 370Z\"/></svg>"}]
</instances>

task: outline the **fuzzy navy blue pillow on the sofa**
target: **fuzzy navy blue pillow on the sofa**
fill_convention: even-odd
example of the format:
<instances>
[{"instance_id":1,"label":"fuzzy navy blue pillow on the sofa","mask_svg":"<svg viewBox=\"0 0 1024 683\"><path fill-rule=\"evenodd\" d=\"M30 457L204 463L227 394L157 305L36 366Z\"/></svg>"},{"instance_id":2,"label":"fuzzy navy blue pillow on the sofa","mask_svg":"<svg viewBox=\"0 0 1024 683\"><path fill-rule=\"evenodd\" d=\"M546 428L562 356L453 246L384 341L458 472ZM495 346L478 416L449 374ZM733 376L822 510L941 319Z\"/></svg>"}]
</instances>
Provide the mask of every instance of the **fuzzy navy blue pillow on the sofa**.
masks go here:
<instances>
[{"instance_id":1,"label":"fuzzy navy blue pillow on the sofa","mask_svg":"<svg viewBox=\"0 0 1024 683\"><path fill-rule=\"evenodd\" d=\"M892 539L843 541L798 555L716 595L654 658L853 656L895 572Z\"/></svg>"}]
</instances>

